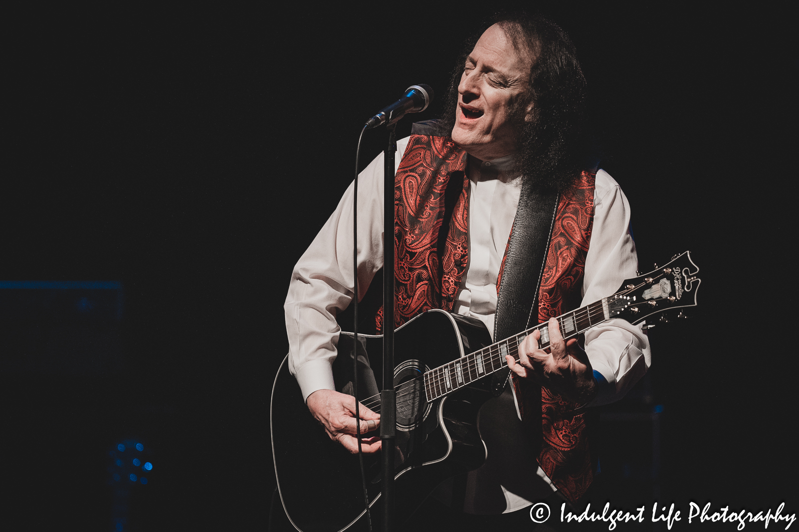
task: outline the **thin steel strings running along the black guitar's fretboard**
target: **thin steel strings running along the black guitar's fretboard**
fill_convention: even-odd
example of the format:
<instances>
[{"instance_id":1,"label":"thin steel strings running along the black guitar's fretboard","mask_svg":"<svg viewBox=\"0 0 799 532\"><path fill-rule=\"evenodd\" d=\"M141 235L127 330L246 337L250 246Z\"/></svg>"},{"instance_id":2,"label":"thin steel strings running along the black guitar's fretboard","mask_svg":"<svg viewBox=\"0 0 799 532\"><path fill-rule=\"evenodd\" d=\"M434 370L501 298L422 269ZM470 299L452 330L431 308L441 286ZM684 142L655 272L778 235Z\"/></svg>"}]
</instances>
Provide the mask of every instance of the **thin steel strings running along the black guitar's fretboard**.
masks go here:
<instances>
[{"instance_id":1,"label":"thin steel strings running along the black guitar's fretboard","mask_svg":"<svg viewBox=\"0 0 799 532\"><path fill-rule=\"evenodd\" d=\"M657 279L657 278L662 277L663 274L664 273L660 273L660 274L654 276L652 278L652 282L654 283L654 280ZM620 290L618 293L613 294L612 296L607 298L607 302L608 303L612 303L614 301L618 301L619 298L622 298L626 294L630 294L631 291L637 290L638 288L640 288L641 286L644 286L645 284L646 284L646 281L638 284L637 286L630 286L626 290ZM637 307L638 305L646 304L646 302L647 301L641 301L640 303L634 304L634 306ZM592 307L594 307L594 308L592 309ZM562 316L560 316L560 318L568 317L568 314L569 313L564 313L564 314L562 314ZM582 321L585 318L588 319L589 326L586 329L589 329L590 327L594 326L594 324L591 323L591 319L590 318L591 317L598 317L600 315L602 316L603 319L598 321L596 325L598 325L602 321L605 321L604 320L604 308L603 308L603 305L602 305L602 300L594 301L594 303L591 303L590 305L586 305L586 306L582 307L581 309L576 309L576 310L572 311L572 313L571 313L571 317L572 317L573 321L575 321L575 322L576 321ZM559 320L559 328L560 329L562 329L562 321L563 321L562 319ZM513 351L515 353L512 353L512 354L515 355L516 353L519 353L519 349L518 349L519 337L521 337L523 335L524 335L524 337L527 337L527 335L531 334L533 331L535 331L535 329L543 329L545 326L548 326L547 324L548 324L548 322L536 325L535 327L531 327L531 329L527 329L526 331L523 331L522 333L515 334L514 336L508 337L508 338L506 338L503 341L497 342L496 344L492 344L492 345L487 346L486 348L480 349L478 352L470 353L469 355L466 355L465 357L462 357L462 358L467 358L467 361L465 361L466 362L465 365L463 363L461 364L461 375L463 376L463 373L467 373L467 377L469 379L468 382L466 382L466 379L464 378L463 379L463 384L459 384L458 385L458 383L456 381L454 387L453 386L450 386L450 387L446 386L445 380L447 379L447 377L443 376L443 375L438 375L437 373L439 372L439 370L441 370L441 369L443 369L445 367L447 369L449 369L450 365L453 365L453 368L452 368L453 371L452 372L456 373L454 365L457 364L458 361L451 361L451 362L449 362L449 363L447 363L445 365L439 366L439 368L431 369L429 372L426 372L422 376L415 377L414 379L409 380L406 383L403 383L403 386L399 390L397 390L398 398L403 398L403 397L409 396L410 395L410 393L408 392L409 388L416 388L416 386L417 386L417 382L416 381L418 381L419 379L422 380L422 383L419 386L419 388L425 388L425 395L427 395L428 387L425 385L426 383L424 382L424 376L427 376L427 375L431 375L431 374L433 375L432 378L428 378L427 379L427 383L430 384L429 389L431 389L431 391L435 392L435 394L436 394L436 396L433 399L437 399L439 397L439 395L438 395L439 392L438 392L438 390L435 389L436 386L439 389L441 389L442 391L447 389L447 388L452 388L450 391L455 391L455 389L459 389L459 388L462 388L463 386L465 386L467 384L471 384L472 382L475 382L475 380L482 379L483 376L487 376L487 375L490 375L491 373L499 371L498 369L493 369L493 366L494 366L493 363L495 361L499 361L500 362L500 369L502 368L502 362L501 361L504 359L504 357L502 356L502 347L501 346L503 344L507 345L507 349L509 351L509 354L510 354L511 351ZM586 329L582 329L582 330L586 330ZM561 330L561 334L564 335L563 336L564 339L569 339L570 337L574 337L574 336L577 336L579 334L579 332L576 332L577 329L574 329L574 330L575 330L574 334L565 335L564 331L562 331L562 330ZM515 340L515 342L511 343L511 341L514 341L514 340ZM547 341L547 342L543 342L541 344L541 346L544 349L546 349L549 344L550 344L550 342ZM492 368L491 372L484 372L483 376L480 376L479 375L479 371L477 371L479 364L477 362L476 354L478 354L478 353L480 353L481 355L488 354L490 356L488 361L491 361L491 368ZM496 359L494 357L495 355L498 356ZM516 362L518 362L518 360L516 360ZM485 365L485 361L483 361L483 365ZM506 364L506 366L507 366L507 364ZM476 379L472 379L471 378L472 370L475 370L474 372L478 376ZM450 373L452 373L452 372L450 372ZM449 377L450 381L451 381L451 379L452 379L452 376ZM442 383L444 383L443 386L442 386ZM445 393L442 393L441 396L446 395L446 393L449 393L449 391L447 391ZM398 402L397 403L397 407L399 408L401 406L405 406L405 405L407 405L408 402L410 402L410 401L412 401L414 399L415 399L415 397L411 396L411 399L409 399L407 401L404 401L402 403ZM369 401L369 403L366 404L366 401ZM376 404L380 404L380 395L368 397L367 399L362 401L362 404L364 404L364 406L367 406L368 408L372 408ZM374 410L374 409L372 408L372 410Z\"/></svg>"}]
</instances>

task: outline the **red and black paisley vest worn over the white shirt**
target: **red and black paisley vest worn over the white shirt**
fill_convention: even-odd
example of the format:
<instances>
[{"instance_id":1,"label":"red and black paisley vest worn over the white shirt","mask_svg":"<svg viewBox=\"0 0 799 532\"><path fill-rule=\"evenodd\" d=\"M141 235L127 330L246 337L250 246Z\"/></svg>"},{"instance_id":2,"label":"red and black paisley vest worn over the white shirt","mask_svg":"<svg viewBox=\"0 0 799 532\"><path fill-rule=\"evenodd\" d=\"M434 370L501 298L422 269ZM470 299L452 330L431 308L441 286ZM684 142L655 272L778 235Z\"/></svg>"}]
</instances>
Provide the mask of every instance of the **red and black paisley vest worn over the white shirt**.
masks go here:
<instances>
[{"instance_id":1,"label":"red and black paisley vest worn over the white shirt","mask_svg":"<svg viewBox=\"0 0 799 532\"><path fill-rule=\"evenodd\" d=\"M469 262L466 164L467 153L449 137L413 135L408 141L394 189L395 327L426 310L453 308ZM581 301L582 274L594 219L594 176L595 172L583 171L576 185L559 196L539 288L537 323L574 309ZM452 201L454 206L446 204ZM503 258L500 278L504 266ZM376 321L377 328L382 329L382 308ZM521 399L523 422L535 420L538 424L540 420L541 468L574 502L586 491L593 476L584 414L574 413L578 405L547 388L515 375L513 384ZM540 417L531 412L531 406L538 404Z\"/></svg>"}]
</instances>

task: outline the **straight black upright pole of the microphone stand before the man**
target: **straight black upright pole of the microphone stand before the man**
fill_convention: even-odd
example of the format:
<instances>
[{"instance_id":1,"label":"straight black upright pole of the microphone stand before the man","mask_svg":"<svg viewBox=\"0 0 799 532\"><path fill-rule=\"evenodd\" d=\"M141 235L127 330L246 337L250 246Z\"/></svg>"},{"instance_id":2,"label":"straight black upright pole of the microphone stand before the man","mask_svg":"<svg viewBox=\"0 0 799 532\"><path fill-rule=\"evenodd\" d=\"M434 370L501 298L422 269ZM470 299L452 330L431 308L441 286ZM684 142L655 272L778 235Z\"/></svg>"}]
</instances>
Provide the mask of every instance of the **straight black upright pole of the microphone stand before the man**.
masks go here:
<instances>
[{"instance_id":1,"label":"straight black upright pole of the microphone stand before the man","mask_svg":"<svg viewBox=\"0 0 799 532\"><path fill-rule=\"evenodd\" d=\"M394 528L394 447L396 447L396 390L394 389L394 154L396 123L388 120L384 150L383 215L383 389L380 391L380 439L383 450L383 530Z\"/></svg>"}]
</instances>

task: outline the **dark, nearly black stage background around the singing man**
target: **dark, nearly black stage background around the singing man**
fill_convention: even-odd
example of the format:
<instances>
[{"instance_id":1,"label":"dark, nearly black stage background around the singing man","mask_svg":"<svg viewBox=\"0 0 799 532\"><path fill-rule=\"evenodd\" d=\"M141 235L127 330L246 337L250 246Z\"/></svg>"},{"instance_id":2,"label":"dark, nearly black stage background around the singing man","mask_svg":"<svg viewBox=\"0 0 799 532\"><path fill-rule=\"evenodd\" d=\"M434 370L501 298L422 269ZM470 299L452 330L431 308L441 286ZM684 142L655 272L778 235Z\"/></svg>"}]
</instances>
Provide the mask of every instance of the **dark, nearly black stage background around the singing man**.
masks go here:
<instances>
[{"instance_id":1,"label":"dark, nearly black stage background around the singing man","mask_svg":"<svg viewBox=\"0 0 799 532\"><path fill-rule=\"evenodd\" d=\"M360 124L420 82L439 98L419 120L435 117L461 43L491 14L416 9L9 18L0 277L117 280L125 295L121 321L97 325L118 335L106 361L81 359L105 349L93 337L74 343L74 364L42 352L73 318L0 325L4 519L17 530L112 530L107 451L126 438L157 466L126 530L267 526L292 266L352 180ZM641 270L686 249L702 269L693 319L651 337L659 500L795 512L787 13L535 9L577 46ZM363 164L382 143L369 134ZM651 504L622 491L594 503Z\"/></svg>"}]
</instances>

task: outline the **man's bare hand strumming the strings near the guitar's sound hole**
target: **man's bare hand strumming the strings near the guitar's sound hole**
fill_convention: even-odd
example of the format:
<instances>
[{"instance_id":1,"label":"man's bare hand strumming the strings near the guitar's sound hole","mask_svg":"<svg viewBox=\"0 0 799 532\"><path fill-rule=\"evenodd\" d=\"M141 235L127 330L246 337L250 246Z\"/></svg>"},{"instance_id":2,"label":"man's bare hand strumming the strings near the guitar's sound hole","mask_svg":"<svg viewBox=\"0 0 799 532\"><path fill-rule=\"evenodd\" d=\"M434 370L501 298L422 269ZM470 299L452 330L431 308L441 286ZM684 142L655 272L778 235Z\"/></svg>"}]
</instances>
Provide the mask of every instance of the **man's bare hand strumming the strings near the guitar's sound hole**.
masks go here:
<instances>
[{"instance_id":1,"label":"man's bare hand strumming the strings near the guitar's sound hole","mask_svg":"<svg viewBox=\"0 0 799 532\"><path fill-rule=\"evenodd\" d=\"M358 452L356 436L355 397L333 390L316 390L305 401L316 420L324 426L330 439L344 445L352 453ZM380 427L380 414L376 414L360 403L360 434L372 432ZM380 451L380 437L361 439L364 452Z\"/></svg>"}]
</instances>

